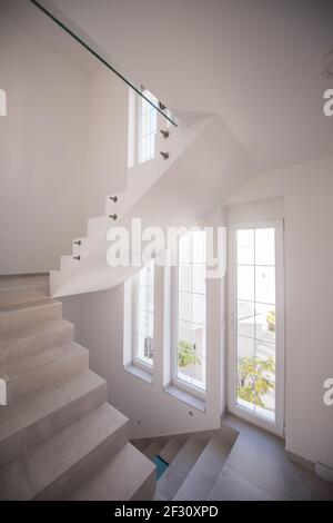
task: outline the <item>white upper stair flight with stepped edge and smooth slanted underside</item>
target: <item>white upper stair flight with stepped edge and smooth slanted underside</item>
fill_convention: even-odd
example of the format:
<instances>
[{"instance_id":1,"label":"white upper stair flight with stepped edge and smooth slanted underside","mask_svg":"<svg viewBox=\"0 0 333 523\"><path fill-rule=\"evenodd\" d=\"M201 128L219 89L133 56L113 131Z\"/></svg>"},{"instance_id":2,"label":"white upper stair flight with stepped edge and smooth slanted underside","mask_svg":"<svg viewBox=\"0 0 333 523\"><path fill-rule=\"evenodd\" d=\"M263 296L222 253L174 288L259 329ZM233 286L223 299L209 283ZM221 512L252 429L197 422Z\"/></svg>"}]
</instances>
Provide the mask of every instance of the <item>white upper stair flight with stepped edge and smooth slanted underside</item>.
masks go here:
<instances>
[{"instance_id":1,"label":"white upper stair flight with stepped edge and smooth slanted underside","mask_svg":"<svg viewBox=\"0 0 333 523\"><path fill-rule=\"evenodd\" d=\"M163 127L161 120L159 126ZM132 250L132 219L140 217L142 231L151 226L162 231L193 227L256 172L216 116L182 122L170 130L168 140L158 132L155 147L168 150L169 158L158 155L129 169L128 189L107 197L105 214L88 220L87 236L73 241L71 255L61 256L59 270L51 270L52 297L113 288L138 272L131 260L129 266L108 265L112 227L128 231L129 255L138 256Z\"/></svg>"}]
</instances>

